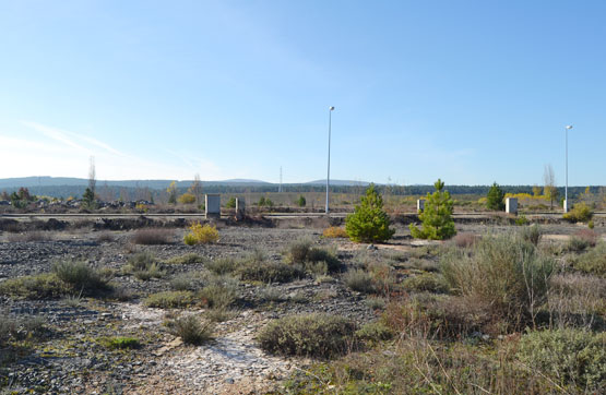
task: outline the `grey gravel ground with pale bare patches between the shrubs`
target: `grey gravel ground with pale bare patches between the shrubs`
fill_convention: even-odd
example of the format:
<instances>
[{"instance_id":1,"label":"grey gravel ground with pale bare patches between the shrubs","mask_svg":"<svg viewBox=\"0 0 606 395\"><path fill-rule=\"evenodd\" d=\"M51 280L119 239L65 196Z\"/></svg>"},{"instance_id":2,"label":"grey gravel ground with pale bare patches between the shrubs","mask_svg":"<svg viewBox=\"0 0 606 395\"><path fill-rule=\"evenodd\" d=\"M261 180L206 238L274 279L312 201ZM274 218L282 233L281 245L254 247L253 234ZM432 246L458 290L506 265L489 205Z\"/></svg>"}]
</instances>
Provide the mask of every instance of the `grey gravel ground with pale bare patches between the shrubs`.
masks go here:
<instances>
[{"instance_id":1,"label":"grey gravel ground with pale bare patches between the shrubs","mask_svg":"<svg viewBox=\"0 0 606 395\"><path fill-rule=\"evenodd\" d=\"M261 250L270 260L280 261L282 251L294 240L309 238L334 248L345 265L356 254L384 254L411 251L423 242L413 241L403 226L388 244L368 248L343 239L320 238L321 229L246 228L221 229L218 243L187 247L183 230L175 230L175 242L164 246L132 246L132 231L114 231L111 241L97 241L100 232L51 232L50 241L8 241L0 235L0 282L49 272L58 260L85 260L96 267L115 271L112 282L133 295L130 300L71 298L60 300L13 300L0 296L4 316L38 315L47 333L41 340L26 344L17 352L0 352L0 392L10 393L132 393L132 394L260 394L272 390L294 369L310 361L268 355L256 342L258 331L270 320L288 314L326 312L348 316L357 323L376 319L364 303L365 296L349 290L338 275L318 283L311 276L272 285L280 300L260 303L262 285L238 286L239 303L233 316L217 324L214 339L202 346L181 344L163 326L175 311L152 309L142 300L152 292L170 289L169 279L186 272L204 270L203 263L171 265L166 278L139 280L121 273L130 255L153 252L159 260L195 252L206 259L241 256ZM485 235L502 232L511 226L461 224L459 231ZM545 225L546 239L566 237L578 225ZM596 230L606 239L606 228ZM193 309L187 313L202 312ZM180 312L182 313L182 312ZM108 350L100 339L132 336L141 342L133 350Z\"/></svg>"}]
</instances>

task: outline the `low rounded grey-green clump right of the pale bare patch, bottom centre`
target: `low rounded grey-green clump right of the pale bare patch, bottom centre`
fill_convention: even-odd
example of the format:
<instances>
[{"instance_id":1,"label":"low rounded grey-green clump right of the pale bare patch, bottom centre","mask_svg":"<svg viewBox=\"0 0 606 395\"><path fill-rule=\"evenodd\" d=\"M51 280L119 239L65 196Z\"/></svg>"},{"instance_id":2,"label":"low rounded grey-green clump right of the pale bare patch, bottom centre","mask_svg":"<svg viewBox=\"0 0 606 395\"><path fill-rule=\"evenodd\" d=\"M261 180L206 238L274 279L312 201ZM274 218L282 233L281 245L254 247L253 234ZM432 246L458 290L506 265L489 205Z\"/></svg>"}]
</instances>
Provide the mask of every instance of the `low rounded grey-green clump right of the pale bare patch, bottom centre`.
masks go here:
<instances>
[{"instance_id":1,"label":"low rounded grey-green clump right of the pale bare patch, bottom centre","mask_svg":"<svg viewBox=\"0 0 606 395\"><path fill-rule=\"evenodd\" d=\"M348 319L314 313L274 320L258 339L261 348L272 354L333 358L349 350L355 331Z\"/></svg>"}]
</instances>

